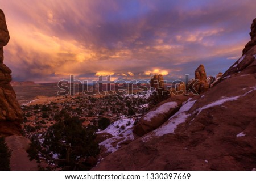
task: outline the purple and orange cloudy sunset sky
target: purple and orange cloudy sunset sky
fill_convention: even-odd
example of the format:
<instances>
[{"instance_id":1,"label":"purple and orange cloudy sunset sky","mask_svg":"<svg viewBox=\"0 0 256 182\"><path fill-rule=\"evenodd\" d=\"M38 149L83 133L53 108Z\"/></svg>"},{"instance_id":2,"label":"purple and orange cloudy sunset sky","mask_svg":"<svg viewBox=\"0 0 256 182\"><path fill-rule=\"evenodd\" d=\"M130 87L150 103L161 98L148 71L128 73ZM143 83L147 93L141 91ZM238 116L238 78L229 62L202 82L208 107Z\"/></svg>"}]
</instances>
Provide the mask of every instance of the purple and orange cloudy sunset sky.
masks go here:
<instances>
[{"instance_id":1,"label":"purple and orange cloudy sunset sky","mask_svg":"<svg viewBox=\"0 0 256 182\"><path fill-rule=\"evenodd\" d=\"M0 0L15 81L194 77L225 72L242 55L254 0Z\"/></svg>"}]
</instances>

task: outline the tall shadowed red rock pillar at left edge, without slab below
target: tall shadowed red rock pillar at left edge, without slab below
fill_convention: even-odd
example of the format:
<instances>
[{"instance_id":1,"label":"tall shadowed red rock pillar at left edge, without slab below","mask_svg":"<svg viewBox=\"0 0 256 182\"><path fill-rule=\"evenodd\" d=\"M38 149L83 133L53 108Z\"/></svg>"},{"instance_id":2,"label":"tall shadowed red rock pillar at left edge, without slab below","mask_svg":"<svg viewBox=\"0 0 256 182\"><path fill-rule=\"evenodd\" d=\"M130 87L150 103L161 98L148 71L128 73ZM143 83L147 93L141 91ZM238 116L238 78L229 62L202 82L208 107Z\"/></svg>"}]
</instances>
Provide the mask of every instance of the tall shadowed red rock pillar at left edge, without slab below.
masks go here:
<instances>
[{"instance_id":1,"label":"tall shadowed red rock pillar at left edge, without slab below","mask_svg":"<svg viewBox=\"0 0 256 182\"><path fill-rule=\"evenodd\" d=\"M3 46L9 39L5 15L0 9L0 136L20 134L19 122L22 121L22 111L10 85L11 70L3 64Z\"/></svg>"}]
</instances>

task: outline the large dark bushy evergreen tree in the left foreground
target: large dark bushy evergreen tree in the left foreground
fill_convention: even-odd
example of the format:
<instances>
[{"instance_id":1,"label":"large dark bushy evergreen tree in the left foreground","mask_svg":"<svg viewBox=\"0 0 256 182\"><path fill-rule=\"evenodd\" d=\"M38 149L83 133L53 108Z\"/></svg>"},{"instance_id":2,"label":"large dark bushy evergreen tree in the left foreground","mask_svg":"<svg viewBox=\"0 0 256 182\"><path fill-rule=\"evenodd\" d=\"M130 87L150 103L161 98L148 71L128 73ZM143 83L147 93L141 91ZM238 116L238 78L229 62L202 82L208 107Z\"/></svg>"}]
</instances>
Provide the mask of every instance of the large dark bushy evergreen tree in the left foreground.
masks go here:
<instances>
[{"instance_id":1,"label":"large dark bushy evergreen tree in the left foreground","mask_svg":"<svg viewBox=\"0 0 256 182\"><path fill-rule=\"evenodd\" d=\"M48 128L43 147L58 155L58 164L65 170L86 170L80 159L99 153L95 130L84 128L76 117L65 118Z\"/></svg>"}]
</instances>

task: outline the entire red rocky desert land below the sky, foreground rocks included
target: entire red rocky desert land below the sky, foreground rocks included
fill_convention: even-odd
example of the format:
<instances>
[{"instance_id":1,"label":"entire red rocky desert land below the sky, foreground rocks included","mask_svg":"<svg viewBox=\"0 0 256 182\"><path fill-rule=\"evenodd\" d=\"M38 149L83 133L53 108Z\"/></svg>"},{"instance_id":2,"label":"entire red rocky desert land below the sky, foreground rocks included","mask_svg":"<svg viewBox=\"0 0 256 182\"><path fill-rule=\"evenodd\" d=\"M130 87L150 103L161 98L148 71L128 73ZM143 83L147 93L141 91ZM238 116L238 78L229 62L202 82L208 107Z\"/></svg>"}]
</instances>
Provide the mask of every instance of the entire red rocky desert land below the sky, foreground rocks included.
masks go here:
<instances>
[{"instance_id":1,"label":"entire red rocky desert land below the sky, foreground rocks included","mask_svg":"<svg viewBox=\"0 0 256 182\"><path fill-rule=\"evenodd\" d=\"M256 19L224 73L199 64L187 82L155 72L135 89L72 82L62 95L64 82L12 80L6 19L0 10L0 170L256 170Z\"/></svg>"}]
</instances>

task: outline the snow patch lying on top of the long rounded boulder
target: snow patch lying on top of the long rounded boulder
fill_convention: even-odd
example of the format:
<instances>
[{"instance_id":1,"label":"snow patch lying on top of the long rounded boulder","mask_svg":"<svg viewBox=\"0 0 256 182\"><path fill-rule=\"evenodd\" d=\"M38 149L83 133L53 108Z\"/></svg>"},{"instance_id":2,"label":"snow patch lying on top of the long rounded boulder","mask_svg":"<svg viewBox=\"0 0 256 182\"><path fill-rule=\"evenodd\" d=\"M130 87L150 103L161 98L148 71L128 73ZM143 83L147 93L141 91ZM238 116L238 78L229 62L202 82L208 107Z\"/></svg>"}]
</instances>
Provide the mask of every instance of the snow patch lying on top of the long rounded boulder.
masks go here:
<instances>
[{"instance_id":1,"label":"snow patch lying on top of the long rounded boulder","mask_svg":"<svg viewBox=\"0 0 256 182\"><path fill-rule=\"evenodd\" d=\"M151 121L154 116L168 112L171 108L175 107L177 107L177 103L175 101L164 103L163 105L160 105L158 108L156 108L155 111L148 112L143 118L144 120Z\"/></svg>"}]
</instances>

